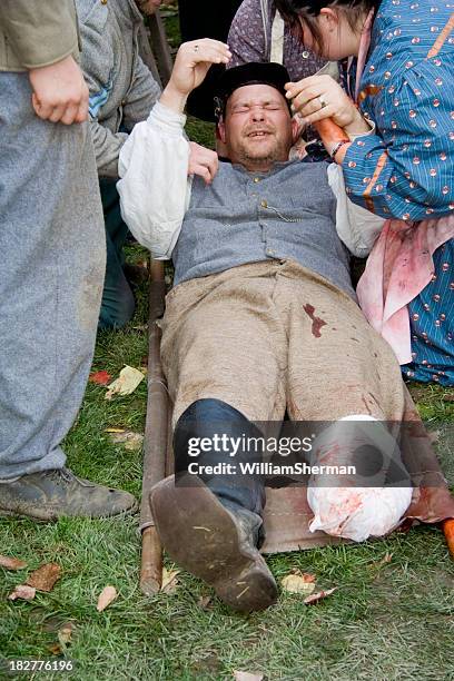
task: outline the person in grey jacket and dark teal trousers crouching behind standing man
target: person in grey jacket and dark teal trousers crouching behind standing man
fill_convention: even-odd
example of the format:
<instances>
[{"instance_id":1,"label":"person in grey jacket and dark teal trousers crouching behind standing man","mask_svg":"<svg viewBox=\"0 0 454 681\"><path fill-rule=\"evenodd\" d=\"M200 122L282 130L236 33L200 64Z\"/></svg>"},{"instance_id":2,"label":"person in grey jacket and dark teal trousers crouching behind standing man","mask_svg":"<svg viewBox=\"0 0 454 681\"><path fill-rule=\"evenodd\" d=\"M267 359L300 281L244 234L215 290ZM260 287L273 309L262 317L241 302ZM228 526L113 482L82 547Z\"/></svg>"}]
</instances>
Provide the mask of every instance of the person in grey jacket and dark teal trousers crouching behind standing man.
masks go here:
<instances>
[{"instance_id":1,"label":"person in grey jacket and dark teal trousers crouching behind standing man","mask_svg":"<svg viewBox=\"0 0 454 681\"><path fill-rule=\"evenodd\" d=\"M81 68L90 100L90 131L105 214L107 265L100 328L120 328L135 310L127 278L124 246L128 236L116 182L120 149L134 126L145 120L160 95L160 86L139 56L142 17L160 0L76 0L82 40Z\"/></svg>"}]
</instances>

